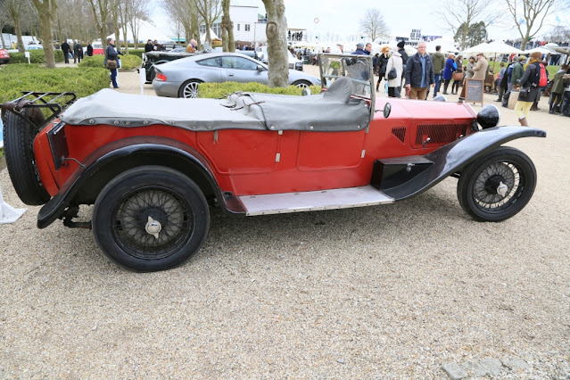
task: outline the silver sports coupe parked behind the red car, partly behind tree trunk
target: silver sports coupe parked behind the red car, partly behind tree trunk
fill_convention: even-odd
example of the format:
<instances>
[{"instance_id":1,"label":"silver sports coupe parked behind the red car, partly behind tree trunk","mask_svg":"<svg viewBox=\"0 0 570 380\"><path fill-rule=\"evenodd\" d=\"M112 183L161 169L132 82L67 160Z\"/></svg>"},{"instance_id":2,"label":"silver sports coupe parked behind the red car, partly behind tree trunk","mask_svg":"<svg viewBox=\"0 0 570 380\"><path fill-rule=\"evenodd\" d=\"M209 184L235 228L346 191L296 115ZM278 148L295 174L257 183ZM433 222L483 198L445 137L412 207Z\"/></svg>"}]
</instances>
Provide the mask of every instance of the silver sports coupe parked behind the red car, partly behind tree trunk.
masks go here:
<instances>
[{"instance_id":1,"label":"silver sports coupe parked behind the red car, partly behind tree trunk","mask_svg":"<svg viewBox=\"0 0 570 380\"><path fill-rule=\"evenodd\" d=\"M197 54L155 66L153 88L156 95L196 97L202 82L268 83L267 65L238 53ZM298 70L289 70L289 84L320 86L320 79Z\"/></svg>"}]
</instances>

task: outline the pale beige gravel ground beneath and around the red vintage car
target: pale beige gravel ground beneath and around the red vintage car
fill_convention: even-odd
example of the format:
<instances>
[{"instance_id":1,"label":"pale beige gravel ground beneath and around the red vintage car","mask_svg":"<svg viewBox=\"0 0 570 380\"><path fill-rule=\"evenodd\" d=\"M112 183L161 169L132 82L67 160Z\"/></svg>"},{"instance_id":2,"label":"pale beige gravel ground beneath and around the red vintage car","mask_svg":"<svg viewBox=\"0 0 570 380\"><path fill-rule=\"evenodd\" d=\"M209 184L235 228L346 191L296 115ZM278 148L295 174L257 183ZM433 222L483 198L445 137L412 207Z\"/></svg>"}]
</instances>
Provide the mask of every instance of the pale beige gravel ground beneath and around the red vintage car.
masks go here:
<instances>
[{"instance_id":1,"label":"pale beige gravel ground beneath and around the red vintage car","mask_svg":"<svg viewBox=\"0 0 570 380\"><path fill-rule=\"evenodd\" d=\"M136 73L119 81L140 88ZM0 377L570 378L570 119L530 123L548 137L512 145L536 192L498 224L469 219L448 178L387 206L214 211L193 260L135 274L88 230L37 229L29 207L0 226ZM0 187L24 207L6 169Z\"/></svg>"}]
</instances>

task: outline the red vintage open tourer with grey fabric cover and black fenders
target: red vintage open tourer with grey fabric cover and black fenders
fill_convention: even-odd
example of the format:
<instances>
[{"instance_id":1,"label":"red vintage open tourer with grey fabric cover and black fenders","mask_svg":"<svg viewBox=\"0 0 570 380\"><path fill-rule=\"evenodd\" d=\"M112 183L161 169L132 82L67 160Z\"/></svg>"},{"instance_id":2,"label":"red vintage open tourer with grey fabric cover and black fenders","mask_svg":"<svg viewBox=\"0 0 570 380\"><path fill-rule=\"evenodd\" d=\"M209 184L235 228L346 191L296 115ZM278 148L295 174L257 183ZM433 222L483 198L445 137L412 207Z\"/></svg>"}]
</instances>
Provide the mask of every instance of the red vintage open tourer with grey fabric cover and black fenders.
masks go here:
<instances>
[{"instance_id":1,"label":"red vintage open tourer with grey fabric cover and black fenders","mask_svg":"<svg viewBox=\"0 0 570 380\"><path fill-rule=\"evenodd\" d=\"M496 127L494 106L476 114L467 103L376 99L369 57L319 61L318 95L170 99L104 89L77 102L29 93L4 103L12 184L23 202L44 204L37 227L91 227L111 260L136 271L188 260L211 207L254 216L371 206L450 176L476 220L508 219L531 199L533 162L501 145L544 131ZM82 204L95 204L92 221L74 220Z\"/></svg>"}]
</instances>

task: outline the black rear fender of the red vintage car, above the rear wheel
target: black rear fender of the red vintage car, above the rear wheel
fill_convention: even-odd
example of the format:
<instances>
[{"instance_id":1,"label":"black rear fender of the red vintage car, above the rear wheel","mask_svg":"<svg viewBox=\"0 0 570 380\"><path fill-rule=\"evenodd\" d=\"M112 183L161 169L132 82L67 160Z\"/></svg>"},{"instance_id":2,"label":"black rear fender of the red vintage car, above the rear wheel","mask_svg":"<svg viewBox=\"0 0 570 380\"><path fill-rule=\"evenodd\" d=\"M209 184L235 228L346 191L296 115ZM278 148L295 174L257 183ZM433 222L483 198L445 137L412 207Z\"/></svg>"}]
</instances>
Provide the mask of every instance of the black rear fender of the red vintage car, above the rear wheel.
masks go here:
<instances>
[{"instance_id":1,"label":"black rear fender of the red vintage car, above the rear wheel","mask_svg":"<svg viewBox=\"0 0 570 380\"><path fill-rule=\"evenodd\" d=\"M233 197L222 194L210 164L194 148L165 137L130 137L105 145L88 156L40 209L37 227L45 228L55 219L62 219L70 206L94 203L109 180L127 169L148 164L179 170L192 178L204 194L218 199L227 211L243 212Z\"/></svg>"}]
</instances>

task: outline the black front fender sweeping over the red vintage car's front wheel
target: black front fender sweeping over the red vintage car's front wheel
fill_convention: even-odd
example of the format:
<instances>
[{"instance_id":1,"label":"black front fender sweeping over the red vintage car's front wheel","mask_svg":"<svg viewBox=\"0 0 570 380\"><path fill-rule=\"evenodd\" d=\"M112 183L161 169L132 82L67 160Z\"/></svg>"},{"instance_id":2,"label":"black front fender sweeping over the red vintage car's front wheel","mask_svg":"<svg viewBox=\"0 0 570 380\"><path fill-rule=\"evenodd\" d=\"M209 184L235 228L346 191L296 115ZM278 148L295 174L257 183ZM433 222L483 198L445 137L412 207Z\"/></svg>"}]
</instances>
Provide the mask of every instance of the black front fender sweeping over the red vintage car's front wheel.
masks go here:
<instances>
[{"instance_id":1,"label":"black front fender sweeping over the red vintage car's front wheel","mask_svg":"<svg viewBox=\"0 0 570 380\"><path fill-rule=\"evenodd\" d=\"M432 161L432 165L409 181L384 189L384 194L396 201L420 194L496 147L521 137L546 137L546 132L537 128L504 126L483 129L461 137L432 153L425 154L423 157L427 161Z\"/></svg>"}]
</instances>

